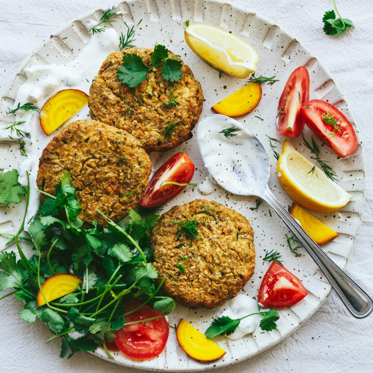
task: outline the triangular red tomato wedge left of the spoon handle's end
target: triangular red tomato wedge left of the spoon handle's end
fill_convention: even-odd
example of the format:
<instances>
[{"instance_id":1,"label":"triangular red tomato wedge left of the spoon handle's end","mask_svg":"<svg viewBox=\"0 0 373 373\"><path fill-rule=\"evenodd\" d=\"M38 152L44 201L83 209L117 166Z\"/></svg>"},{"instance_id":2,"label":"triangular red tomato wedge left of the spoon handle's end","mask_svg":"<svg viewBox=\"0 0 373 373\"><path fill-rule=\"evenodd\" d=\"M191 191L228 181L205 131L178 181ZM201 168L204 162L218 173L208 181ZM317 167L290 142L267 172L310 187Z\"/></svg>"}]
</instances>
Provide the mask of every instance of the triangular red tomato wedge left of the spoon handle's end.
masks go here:
<instances>
[{"instance_id":1,"label":"triangular red tomato wedge left of the spoon handle's end","mask_svg":"<svg viewBox=\"0 0 373 373\"><path fill-rule=\"evenodd\" d=\"M261 282L258 302L264 307L289 307L307 294L307 289L295 275L273 261Z\"/></svg>"}]
</instances>

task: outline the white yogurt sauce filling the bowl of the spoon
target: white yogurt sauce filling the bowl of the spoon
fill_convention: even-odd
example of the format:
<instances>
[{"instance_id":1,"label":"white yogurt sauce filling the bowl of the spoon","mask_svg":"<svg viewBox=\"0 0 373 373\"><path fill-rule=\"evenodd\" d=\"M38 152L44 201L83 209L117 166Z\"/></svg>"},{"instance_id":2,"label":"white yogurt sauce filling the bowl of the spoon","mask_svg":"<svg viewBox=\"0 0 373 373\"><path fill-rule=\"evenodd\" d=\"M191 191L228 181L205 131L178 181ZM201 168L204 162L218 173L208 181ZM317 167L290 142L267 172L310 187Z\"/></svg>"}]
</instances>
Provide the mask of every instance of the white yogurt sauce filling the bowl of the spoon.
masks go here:
<instances>
[{"instance_id":1,"label":"white yogurt sauce filling the bowl of the spoon","mask_svg":"<svg viewBox=\"0 0 373 373\"><path fill-rule=\"evenodd\" d=\"M228 138L220 133L230 127L240 130ZM219 185L234 194L262 196L270 178L268 156L248 129L215 114L199 122L197 139L205 167Z\"/></svg>"}]
</instances>

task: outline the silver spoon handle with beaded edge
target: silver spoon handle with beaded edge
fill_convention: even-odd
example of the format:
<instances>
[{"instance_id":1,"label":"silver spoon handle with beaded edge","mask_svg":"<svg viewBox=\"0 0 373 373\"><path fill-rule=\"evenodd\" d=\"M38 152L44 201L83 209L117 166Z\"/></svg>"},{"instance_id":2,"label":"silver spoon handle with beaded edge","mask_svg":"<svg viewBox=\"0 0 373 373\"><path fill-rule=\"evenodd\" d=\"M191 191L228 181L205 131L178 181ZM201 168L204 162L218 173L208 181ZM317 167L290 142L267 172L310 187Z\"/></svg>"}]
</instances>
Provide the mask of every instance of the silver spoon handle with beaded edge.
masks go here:
<instances>
[{"instance_id":1,"label":"silver spoon handle with beaded edge","mask_svg":"<svg viewBox=\"0 0 373 373\"><path fill-rule=\"evenodd\" d=\"M299 242L307 250L319 269L327 277L338 296L350 313L356 318L368 316L372 310L372 300L353 280L351 280L325 252L308 236L289 212L267 187L262 198L277 212Z\"/></svg>"}]
</instances>

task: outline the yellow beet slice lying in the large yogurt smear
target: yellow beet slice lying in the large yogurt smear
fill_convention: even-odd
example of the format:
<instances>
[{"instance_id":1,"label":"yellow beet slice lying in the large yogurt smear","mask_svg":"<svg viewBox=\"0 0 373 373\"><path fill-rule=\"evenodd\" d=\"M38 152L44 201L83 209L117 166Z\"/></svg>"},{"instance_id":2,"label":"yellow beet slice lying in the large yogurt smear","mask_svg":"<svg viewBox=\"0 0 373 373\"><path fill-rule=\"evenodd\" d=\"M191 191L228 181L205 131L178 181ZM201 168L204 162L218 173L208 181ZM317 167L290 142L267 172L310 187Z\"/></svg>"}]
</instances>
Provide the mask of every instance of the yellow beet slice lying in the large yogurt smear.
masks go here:
<instances>
[{"instance_id":1,"label":"yellow beet slice lying in the large yogurt smear","mask_svg":"<svg viewBox=\"0 0 373 373\"><path fill-rule=\"evenodd\" d=\"M50 135L88 103L88 95L79 89L64 89L50 97L41 108L40 126Z\"/></svg>"}]
</instances>

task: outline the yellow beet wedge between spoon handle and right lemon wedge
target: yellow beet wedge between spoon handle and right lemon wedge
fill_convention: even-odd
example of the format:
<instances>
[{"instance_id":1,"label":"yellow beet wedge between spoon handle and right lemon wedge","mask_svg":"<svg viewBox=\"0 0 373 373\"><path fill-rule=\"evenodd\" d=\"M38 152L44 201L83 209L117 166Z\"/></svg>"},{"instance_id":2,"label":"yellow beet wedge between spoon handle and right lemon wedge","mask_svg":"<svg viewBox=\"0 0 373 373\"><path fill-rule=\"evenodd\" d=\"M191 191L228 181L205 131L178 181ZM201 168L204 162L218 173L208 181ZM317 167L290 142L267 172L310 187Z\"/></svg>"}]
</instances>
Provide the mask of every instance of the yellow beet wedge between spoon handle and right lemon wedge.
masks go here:
<instances>
[{"instance_id":1,"label":"yellow beet wedge between spoon handle and right lemon wedge","mask_svg":"<svg viewBox=\"0 0 373 373\"><path fill-rule=\"evenodd\" d=\"M291 216L296 219L308 235L318 244L327 243L338 236L338 233L319 221L298 204L293 203L290 208Z\"/></svg>"}]
</instances>

